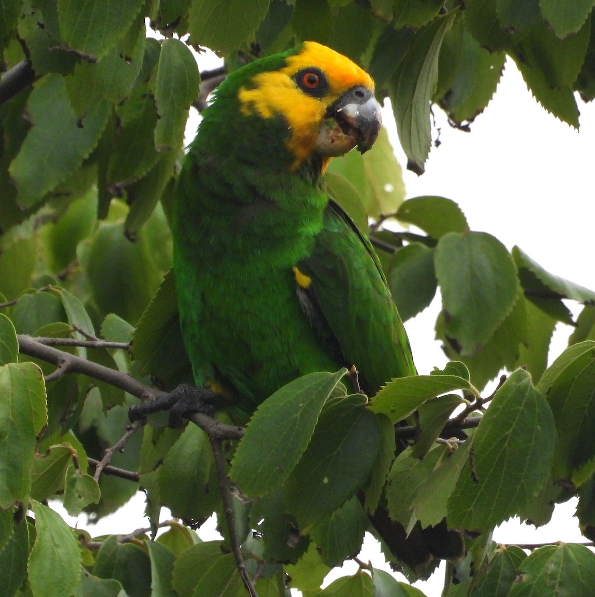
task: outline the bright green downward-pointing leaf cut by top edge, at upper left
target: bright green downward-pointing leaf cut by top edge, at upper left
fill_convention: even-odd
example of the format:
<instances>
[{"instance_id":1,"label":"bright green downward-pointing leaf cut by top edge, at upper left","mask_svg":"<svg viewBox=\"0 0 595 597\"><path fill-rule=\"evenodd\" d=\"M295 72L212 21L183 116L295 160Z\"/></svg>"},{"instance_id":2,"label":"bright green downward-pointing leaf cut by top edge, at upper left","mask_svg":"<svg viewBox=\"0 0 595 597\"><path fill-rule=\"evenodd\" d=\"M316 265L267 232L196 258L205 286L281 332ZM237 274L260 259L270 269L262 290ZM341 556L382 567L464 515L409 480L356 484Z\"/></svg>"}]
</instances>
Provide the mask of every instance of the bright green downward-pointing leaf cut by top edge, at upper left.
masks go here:
<instances>
[{"instance_id":1,"label":"bright green downward-pointing leaf cut by top edge, at upper left","mask_svg":"<svg viewBox=\"0 0 595 597\"><path fill-rule=\"evenodd\" d=\"M99 60L124 36L143 0L58 0L60 33L71 48Z\"/></svg>"}]
</instances>

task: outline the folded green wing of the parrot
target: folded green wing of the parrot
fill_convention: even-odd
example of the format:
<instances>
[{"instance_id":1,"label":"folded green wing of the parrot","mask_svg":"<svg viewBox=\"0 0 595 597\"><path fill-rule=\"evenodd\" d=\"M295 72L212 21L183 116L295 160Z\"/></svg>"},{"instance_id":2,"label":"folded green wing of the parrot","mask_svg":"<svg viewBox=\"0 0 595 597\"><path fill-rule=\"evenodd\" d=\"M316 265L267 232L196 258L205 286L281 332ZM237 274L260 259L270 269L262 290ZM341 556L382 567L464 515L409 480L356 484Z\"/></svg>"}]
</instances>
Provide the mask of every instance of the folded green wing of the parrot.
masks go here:
<instances>
[{"instance_id":1,"label":"folded green wing of the parrot","mask_svg":"<svg viewBox=\"0 0 595 597\"><path fill-rule=\"evenodd\" d=\"M356 366L362 389L375 393L393 377L417 373L372 245L334 201L298 269L312 279L298 287L307 316L329 350Z\"/></svg>"}]
</instances>

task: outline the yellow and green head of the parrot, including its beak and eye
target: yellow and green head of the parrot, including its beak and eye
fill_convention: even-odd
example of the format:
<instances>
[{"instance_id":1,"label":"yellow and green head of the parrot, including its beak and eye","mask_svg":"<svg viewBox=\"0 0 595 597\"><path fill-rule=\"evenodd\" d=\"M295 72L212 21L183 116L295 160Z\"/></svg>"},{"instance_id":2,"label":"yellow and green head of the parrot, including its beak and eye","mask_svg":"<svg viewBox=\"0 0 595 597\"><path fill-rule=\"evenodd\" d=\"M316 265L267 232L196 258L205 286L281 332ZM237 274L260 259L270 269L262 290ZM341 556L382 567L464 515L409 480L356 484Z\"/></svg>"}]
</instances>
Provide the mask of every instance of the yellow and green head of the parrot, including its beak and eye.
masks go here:
<instances>
[{"instance_id":1,"label":"yellow and green head of the parrot, including its beak and eye","mask_svg":"<svg viewBox=\"0 0 595 597\"><path fill-rule=\"evenodd\" d=\"M245 126L234 131L235 143L238 136L258 131L254 144L269 143L275 152L285 152L289 170L312 158L326 165L354 147L363 153L381 126L372 78L316 42L236 70L217 91L217 103L227 113L235 104L245 119ZM252 126L255 119L264 126Z\"/></svg>"}]
</instances>

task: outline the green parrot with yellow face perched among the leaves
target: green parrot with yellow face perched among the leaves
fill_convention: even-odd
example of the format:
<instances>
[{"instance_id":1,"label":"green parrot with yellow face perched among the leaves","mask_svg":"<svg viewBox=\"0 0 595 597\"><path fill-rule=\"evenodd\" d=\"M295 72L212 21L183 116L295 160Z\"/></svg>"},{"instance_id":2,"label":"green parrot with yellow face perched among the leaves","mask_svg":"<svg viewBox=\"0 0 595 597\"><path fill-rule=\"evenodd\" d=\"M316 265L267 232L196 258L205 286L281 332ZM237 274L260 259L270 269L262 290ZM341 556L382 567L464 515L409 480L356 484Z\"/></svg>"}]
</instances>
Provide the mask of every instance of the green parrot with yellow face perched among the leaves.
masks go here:
<instances>
[{"instance_id":1,"label":"green parrot with yellow face perched among the leaves","mask_svg":"<svg viewBox=\"0 0 595 597\"><path fill-rule=\"evenodd\" d=\"M217 88L184 157L172 216L196 387L235 396L249 415L315 371L354 365L368 396L417 374L372 245L324 185L331 159L367 151L380 127L371 76L313 41L254 60ZM445 557L402 527L391 538L386 512L371 519L407 564ZM440 531L453 533L445 523Z\"/></svg>"}]
</instances>

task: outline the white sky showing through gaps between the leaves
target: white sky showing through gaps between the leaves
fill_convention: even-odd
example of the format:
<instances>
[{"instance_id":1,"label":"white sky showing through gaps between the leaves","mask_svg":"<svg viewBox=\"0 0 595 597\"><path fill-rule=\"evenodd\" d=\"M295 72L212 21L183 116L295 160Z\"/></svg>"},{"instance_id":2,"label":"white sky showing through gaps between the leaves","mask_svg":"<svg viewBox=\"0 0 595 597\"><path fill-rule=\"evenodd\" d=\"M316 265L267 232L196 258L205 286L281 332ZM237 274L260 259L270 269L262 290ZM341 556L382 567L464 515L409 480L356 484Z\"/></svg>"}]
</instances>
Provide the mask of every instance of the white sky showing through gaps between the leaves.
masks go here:
<instances>
[{"instance_id":1,"label":"white sky showing through gaps between the leaves","mask_svg":"<svg viewBox=\"0 0 595 597\"><path fill-rule=\"evenodd\" d=\"M212 67L212 63L201 66ZM442 112L435 110L437 124L442 129L442 144L431 151L423 176L405 171L407 196L446 196L460 205L471 230L489 232L508 248L518 244L550 272L595 288L591 170L595 107L587 105L579 109L581 130L576 132L537 104L509 60L494 99L471 125L471 133L452 130ZM384 116L387 122L386 110ZM190 134L195 126L190 125ZM396 136L391 141L393 146L397 145ZM400 147L396 147L396 155L401 164L406 164ZM438 311L439 302L435 300L406 324L421 373L427 373L434 365L442 367L446 362L439 343L434 340L433 325ZM553 357L563 350L571 332L568 327L562 328L556 333ZM90 533L93 536L128 533L146 526L142 497L139 494L130 506L102 521L100 527L91 527ZM556 517L559 522L536 531L513 521L502 525L494 539L509 543L584 540L575 519L570 518L574 503L563 504L560 510L563 512ZM75 521L70 519L70 522ZM205 539L214 538L201 535ZM366 541L362 557L381 565L381 556L371 541ZM350 573L354 567L349 568ZM416 583L428 597L440 595L443 574L434 576L435 580L428 583Z\"/></svg>"}]
</instances>

